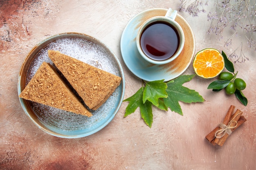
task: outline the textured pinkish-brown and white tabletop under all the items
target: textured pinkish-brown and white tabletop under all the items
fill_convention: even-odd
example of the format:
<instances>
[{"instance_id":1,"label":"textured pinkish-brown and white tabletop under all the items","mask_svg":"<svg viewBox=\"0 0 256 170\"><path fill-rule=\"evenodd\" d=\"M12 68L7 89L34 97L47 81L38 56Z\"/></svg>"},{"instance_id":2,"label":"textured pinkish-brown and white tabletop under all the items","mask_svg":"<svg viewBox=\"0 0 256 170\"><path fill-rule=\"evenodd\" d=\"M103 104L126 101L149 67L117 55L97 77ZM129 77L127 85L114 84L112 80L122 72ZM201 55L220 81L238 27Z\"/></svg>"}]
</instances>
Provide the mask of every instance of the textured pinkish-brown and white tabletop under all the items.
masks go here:
<instances>
[{"instance_id":1,"label":"textured pinkish-brown and white tabletop under all the items","mask_svg":"<svg viewBox=\"0 0 256 170\"><path fill-rule=\"evenodd\" d=\"M0 169L1 170L255 170L256 98L255 51L246 49L249 61L234 64L247 82L243 106L225 92L207 86L215 79L193 78L184 84L206 100L180 102L183 116L153 109L149 128L139 110L124 118L123 103L114 119L99 132L79 139L63 139L40 130L22 110L17 93L20 66L40 41L63 32L85 33L101 40L117 55L124 69L130 97L141 87L121 57L120 38L129 20L150 8L178 9L179 0L4 0L0 2ZM210 8L210 7L209 7ZM230 54L223 42L207 35L207 14L193 17L180 12L195 35L195 52L215 48ZM202 18L201 18L202 17ZM204 21L202 24L202 21ZM233 44L234 45L234 44ZM246 46L246 45L244 45ZM235 48L235 47L233 47ZM232 47L231 47L232 49ZM234 50L234 49L233 49ZM192 65L184 74L193 74ZM204 138L224 118L230 105L247 119L224 146Z\"/></svg>"}]
</instances>

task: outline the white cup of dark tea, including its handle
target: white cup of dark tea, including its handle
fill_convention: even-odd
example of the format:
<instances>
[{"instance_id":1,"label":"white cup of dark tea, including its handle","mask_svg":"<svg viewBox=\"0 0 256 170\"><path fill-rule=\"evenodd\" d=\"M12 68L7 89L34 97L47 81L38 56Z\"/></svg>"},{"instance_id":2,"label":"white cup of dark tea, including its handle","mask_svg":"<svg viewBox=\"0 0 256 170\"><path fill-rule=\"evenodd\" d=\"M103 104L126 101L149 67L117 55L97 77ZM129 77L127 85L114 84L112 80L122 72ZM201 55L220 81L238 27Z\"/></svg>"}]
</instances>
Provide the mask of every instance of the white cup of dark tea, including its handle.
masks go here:
<instances>
[{"instance_id":1,"label":"white cup of dark tea, including its handle","mask_svg":"<svg viewBox=\"0 0 256 170\"><path fill-rule=\"evenodd\" d=\"M152 64L167 64L177 58L184 46L184 32L175 21L177 11L168 9L165 16L146 20L136 37L140 55Z\"/></svg>"}]
</instances>

